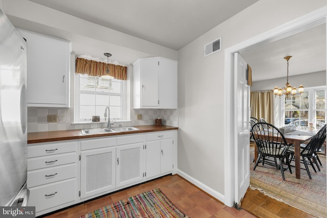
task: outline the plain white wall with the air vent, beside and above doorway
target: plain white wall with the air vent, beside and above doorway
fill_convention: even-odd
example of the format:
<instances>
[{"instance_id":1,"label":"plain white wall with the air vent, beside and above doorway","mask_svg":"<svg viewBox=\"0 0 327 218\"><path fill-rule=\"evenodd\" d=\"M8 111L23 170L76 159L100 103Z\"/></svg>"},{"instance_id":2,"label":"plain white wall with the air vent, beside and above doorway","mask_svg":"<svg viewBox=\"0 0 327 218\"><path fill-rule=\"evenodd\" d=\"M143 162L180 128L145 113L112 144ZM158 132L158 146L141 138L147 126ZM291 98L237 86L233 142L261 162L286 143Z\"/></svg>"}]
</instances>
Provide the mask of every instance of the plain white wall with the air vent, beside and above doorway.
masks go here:
<instances>
[{"instance_id":1,"label":"plain white wall with the air vent, beside and above doorway","mask_svg":"<svg viewBox=\"0 0 327 218\"><path fill-rule=\"evenodd\" d=\"M261 0L179 51L178 170L183 175L224 195L224 49L326 4ZM203 45L220 36L223 50L203 57Z\"/></svg>"}]
</instances>

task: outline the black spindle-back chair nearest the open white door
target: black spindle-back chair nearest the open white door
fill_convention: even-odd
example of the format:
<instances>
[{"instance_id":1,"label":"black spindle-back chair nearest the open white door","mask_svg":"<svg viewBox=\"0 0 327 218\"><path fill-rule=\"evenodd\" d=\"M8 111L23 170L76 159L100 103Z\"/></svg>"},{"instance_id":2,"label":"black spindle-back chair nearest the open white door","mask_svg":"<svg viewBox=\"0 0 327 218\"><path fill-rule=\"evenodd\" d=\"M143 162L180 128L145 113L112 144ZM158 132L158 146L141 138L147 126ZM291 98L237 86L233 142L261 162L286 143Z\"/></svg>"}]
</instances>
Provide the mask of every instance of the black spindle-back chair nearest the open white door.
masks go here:
<instances>
[{"instance_id":1,"label":"black spindle-back chair nearest the open white door","mask_svg":"<svg viewBox=\"0 0 327 218\"><path fill-rule=\"evenodd\" d=\"M280 169L283 180L285 180L284 171L289 169L292 174L292 169L289 163L290 153L288 152L290 144L287 143L283 133L272 124L263 122L254 124L251 131L259 155L253 171L259 163L268 164ZM283 167L283 160L286 160L288 167Z\"/></svg>"}]
</instances>

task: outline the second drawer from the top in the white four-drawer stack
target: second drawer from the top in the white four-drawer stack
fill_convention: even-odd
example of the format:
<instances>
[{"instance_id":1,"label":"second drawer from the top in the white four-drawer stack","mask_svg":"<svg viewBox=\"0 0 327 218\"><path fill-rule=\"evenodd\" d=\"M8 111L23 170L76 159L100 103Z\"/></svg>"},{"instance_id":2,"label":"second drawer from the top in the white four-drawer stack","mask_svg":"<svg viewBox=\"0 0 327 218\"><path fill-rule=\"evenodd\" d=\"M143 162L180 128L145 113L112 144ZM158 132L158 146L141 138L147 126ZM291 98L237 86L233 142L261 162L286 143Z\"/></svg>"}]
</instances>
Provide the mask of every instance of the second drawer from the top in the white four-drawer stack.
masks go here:
<instances>
[{"instance_id":1,"label":"second drawer from the top in the white four-drawer stack","mask_svg":"<svg viewBox=\"0 0 327 218\"><path fill-rule=\"evenodd\" d=\"M76 153L51 155L45 157L35 157L27 159L27 170L41 169L52 166L59 166L67 163L76 162Z\"/></svg>"}]
</instances>

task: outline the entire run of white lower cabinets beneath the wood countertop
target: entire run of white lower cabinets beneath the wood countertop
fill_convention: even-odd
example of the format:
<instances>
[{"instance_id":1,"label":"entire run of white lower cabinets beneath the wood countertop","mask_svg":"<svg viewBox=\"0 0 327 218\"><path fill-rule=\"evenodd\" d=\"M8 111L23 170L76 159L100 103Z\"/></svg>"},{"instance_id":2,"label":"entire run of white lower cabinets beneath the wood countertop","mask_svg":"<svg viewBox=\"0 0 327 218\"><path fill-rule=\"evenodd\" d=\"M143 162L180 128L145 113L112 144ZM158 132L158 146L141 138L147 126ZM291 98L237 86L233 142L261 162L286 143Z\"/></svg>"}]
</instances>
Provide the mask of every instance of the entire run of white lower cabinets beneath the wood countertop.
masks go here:
<instances>
[{"instance_id":1,"label":"entire run of white lower cabinets beneath the wood countertop","mask_svg":"<svg viewBox=\"0 0 327 218\"><path fill-rule=\"evenodd\" d=\"M28 144L36 216L175 174L177 131Z\"/></svg>"}]
</instances>

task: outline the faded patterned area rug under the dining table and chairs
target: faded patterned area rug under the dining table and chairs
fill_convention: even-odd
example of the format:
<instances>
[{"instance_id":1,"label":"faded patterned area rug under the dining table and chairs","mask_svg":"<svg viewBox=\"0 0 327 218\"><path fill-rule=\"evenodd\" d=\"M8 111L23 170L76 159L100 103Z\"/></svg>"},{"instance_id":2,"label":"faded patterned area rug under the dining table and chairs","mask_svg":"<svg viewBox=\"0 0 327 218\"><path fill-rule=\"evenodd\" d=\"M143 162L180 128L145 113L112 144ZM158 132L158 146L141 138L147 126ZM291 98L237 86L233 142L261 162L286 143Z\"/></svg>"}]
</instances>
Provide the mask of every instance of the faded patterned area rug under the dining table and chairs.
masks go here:
<instances>
[{"instance_id":1,"label":"faded patterned area rug under the dining table and chairs","mask_svg":"<svg viewBox=\"0 0 327 218\"><path fill-rule=\"evenodd\" d=\"M326 205L326 157L319 155L322 166L315 173L309 165L312 179L305 169L301 169L301 179L295 178L295 167L292 173L284 172L285 181L279 169L259 163L253 171L254 147L250 148L250 187L258 189L267 196L282 201L317 217L327 217ZM294 163L294 162L293 162ZM304 167L301 164L301 167Z\"/></svg>"}]
</instances>

